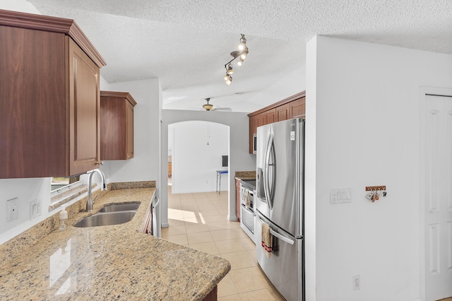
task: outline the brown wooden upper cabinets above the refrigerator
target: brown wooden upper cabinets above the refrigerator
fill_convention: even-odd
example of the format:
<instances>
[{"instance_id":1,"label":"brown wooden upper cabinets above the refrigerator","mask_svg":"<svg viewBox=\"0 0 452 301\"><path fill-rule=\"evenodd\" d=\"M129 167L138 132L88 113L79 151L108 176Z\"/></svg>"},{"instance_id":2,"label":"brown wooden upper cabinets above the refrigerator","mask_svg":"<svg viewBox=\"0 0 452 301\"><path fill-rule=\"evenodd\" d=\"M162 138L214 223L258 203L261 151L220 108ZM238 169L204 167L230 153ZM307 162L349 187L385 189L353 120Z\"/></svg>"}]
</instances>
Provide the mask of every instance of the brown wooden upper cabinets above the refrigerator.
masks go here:
<instances>
[{"instance_id":1,"label":"brown wooden upper cabinets above the refrigerator","mask_svg":"<svg viewBox=\"0 0 452 301\"><path fill-rule=\"evenodd\" d=\"M249 153L253 153L253 137L257 127L273 122L304 117L306 91L285 98L273 105L248 114L249 117Z\"/></svg>"}]
</instances>

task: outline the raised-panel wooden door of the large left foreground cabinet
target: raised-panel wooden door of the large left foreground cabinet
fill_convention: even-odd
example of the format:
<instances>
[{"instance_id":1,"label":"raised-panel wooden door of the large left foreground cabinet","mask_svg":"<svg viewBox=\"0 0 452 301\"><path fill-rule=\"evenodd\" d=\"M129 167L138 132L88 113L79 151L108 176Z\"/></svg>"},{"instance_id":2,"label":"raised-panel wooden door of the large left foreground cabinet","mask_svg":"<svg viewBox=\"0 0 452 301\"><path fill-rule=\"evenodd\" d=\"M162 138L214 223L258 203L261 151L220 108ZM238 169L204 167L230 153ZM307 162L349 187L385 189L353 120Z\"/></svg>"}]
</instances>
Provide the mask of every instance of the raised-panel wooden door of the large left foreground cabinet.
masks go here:
<instances>
[{"instance_id":1,"label":"raised-panel wooden door of the large left foreground cabinet","mask_svg":"<svg viewBox=\"0 0 452 301\"><path fill-rule=\"evenodd\" d=\"M100 162L99 67L70 37L69 44L69 173L97 168ZM66 44L66 45L68 45Z\"/></svg>"}]
</instances>

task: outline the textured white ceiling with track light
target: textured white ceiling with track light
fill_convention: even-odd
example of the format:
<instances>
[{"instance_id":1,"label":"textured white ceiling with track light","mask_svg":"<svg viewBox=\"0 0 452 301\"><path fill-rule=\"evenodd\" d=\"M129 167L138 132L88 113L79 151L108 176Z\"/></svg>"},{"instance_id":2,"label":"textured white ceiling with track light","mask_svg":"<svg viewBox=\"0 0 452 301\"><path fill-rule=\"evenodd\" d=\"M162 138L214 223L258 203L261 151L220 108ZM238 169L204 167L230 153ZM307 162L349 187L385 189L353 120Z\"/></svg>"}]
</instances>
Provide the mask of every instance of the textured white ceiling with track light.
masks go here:
<instances>
[{"instance_id":1,"label":"textured white ceiling with track light","mask_svg":"<svg viewBox=\"0 0 452 301\"><path fill-rule=\"evenodd\" d=\"M212 97L246 110L243 101L305 64L314 35L452 54L451 0L28 1L76 20L107 61L107 81L160 78L164 108L196 110ZM227 86L239 33L249 59Z\"/></svg>"}]
</instances>

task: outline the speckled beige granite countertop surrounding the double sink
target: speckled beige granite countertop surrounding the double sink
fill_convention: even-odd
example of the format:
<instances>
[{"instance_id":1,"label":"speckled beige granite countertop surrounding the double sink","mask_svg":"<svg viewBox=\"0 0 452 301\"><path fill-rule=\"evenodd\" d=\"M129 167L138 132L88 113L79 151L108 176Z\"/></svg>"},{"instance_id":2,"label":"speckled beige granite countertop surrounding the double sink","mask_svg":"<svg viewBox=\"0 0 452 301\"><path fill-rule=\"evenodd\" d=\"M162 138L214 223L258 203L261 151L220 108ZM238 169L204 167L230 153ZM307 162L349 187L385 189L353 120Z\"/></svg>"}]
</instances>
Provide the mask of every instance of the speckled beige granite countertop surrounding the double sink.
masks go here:
<instances>
[{"instance_id":1,"label":"speckled beige granite countertop surrounding the double sink","mask_svg":"<svg viewBox=\"0 0 452 301\"><path fill-rule=\"evenodd\" d=\"M202 300L230 271L230 262L138 232L155 188L107 191L109 203L141 201L129 223L92 228L67 221L0 269L0 300Z\"/></svg>"}]
</instances>

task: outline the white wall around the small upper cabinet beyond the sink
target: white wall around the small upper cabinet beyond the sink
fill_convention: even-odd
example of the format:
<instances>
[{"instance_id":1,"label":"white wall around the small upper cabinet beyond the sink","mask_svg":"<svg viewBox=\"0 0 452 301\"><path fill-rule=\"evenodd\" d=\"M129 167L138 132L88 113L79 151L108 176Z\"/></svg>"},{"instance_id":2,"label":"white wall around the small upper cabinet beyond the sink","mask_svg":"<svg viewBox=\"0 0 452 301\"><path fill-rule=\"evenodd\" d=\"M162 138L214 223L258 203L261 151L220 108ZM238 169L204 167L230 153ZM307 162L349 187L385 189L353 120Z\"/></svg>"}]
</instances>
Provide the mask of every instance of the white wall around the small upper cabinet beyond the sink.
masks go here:
<instances>
[{"instance_id":1,"label":"white wall around the small upper cabinet beyond the sink","mask_svg":"<svg viewBox=\"0 0 452 301\"><path fill-rule=\"evenodd\" d=\"M109 90L129 92L136 100L133 108L133 158L104 161L108 182L157 181L160 166L158 78L109 83Z\"/></svg>"}]
</instances>

